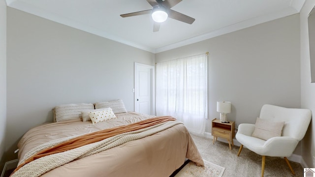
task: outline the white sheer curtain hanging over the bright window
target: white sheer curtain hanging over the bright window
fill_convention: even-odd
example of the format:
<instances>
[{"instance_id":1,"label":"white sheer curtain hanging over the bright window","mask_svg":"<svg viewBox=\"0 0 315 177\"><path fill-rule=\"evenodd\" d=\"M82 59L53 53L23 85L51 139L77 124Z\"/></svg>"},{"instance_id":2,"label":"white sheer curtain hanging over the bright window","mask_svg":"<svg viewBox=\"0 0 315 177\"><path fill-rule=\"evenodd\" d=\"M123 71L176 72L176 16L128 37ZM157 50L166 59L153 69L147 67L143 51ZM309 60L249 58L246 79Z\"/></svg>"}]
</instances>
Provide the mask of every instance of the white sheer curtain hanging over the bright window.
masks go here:
<instances>
[{"instance_id":1,"label":"white sheer curtain hanging over the bright window","mask_svg":"<svg viewBox=\"0 0 315 177\"><path fill-rule=\"evenodd\" d=\"M173 116L197 134L208 118L207 60L201 54L157 63L157 115Z\"/></svg>"}]
</instances>

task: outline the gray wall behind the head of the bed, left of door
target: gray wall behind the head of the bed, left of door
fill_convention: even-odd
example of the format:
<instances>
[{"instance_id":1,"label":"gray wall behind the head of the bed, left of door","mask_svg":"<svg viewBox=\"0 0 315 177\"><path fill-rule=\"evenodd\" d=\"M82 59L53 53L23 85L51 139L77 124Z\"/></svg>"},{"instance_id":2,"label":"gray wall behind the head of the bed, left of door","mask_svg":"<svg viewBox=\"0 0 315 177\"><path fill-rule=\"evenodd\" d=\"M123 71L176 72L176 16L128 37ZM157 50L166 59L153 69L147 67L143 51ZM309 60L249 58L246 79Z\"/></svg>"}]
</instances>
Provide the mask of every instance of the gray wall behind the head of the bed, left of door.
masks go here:
<instances>
[{"instance_id":1,"label":"gray wall behind the head of the bed, left of door","mask_svg":"<svg viewBox=\"0 0 315 177\"><path fill-rule=\"evenodd\" d=\"M7 160L22 135L59 104L116 98L134 110L134 62L154 54L7 8Z\"/></svg>"}]
</instances>

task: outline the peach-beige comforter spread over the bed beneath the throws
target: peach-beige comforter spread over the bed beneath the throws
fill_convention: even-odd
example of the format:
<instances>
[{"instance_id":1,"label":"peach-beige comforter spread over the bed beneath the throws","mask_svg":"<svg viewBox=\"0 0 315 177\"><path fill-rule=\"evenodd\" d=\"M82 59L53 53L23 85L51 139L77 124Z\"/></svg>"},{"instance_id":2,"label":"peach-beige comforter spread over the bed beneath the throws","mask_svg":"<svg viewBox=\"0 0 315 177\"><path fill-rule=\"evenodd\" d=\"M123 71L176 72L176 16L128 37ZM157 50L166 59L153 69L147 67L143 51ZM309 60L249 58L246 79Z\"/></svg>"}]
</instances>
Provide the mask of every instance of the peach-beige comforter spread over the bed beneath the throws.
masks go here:
<instances>
[{"instance_id":1,"label":"peach-beige comforter spread over the bed beneath the throws","mask_svg":"<svg viewBox=\"0 0 315 177\"><path fill-rule=\"evenodd\" d=\"M152 118L134 112L116 116L117 119L94 125L90 121L69 120L33 128L18 145L19 159L23 159L27 151L46 142ZM43 177L168 177L184 163L185 157L203 165L186 127L177 124L151 136L76 159L47 172Z\"/></svg>"}]
</instances>

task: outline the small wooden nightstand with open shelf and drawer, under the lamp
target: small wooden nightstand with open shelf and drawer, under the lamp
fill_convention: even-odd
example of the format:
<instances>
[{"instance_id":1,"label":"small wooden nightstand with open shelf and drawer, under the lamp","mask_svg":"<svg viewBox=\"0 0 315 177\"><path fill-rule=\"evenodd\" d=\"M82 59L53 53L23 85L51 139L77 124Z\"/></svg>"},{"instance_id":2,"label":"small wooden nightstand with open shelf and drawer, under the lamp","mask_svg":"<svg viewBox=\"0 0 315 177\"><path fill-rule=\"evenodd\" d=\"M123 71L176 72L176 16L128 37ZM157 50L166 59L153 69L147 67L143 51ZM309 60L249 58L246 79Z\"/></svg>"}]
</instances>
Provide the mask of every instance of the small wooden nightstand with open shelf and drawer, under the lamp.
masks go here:
<instances>
[{"instance_id":1,"label":"small wooden nightstand with open shelf and drawer, under the lamp","mask_svg":"<svg viewBox=\"0 0 315 177\"><path fill-rule=\"evenodd\" d=\"M228 120L229 121L229 120ZM234 121L229 121L229 123L222 123L220 119L213 119L212 120L212 136L213 136L213 144L215 141L217 141L218 137L224 138L228 141L228 145L231 148L231 143L232 146L234 147L233 143L233 138L235 136L235 122Z\"/></svg>"}]
</instances>

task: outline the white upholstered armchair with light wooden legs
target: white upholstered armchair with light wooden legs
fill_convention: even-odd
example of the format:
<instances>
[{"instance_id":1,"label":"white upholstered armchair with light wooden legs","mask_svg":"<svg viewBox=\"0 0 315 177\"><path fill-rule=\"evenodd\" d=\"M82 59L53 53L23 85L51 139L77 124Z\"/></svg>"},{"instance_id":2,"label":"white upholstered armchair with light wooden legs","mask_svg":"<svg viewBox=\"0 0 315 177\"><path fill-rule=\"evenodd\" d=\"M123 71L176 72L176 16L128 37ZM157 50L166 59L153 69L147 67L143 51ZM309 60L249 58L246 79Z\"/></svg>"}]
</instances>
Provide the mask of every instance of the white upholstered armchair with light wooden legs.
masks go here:
<instances>
[{"instance_id":1,"label":"white upholstered armchair with light wooden legs","mask_svg":"<svg viewBox=\"0 0 315 177\"><path fill-rule=\"evenodd\" d=\"M312 113L308 109L284 108L274 105L263 105L259 118L269 121L284 121L282 136L273 137L267 141L252 137L255 125L242 123L238 126L236 139L241 144L237 156L243 145L253 152L262 155L261 177L264 176L266 156L284 157L291 173L295 175L286 157L290 156L308 129Z\"/></svg>"}]
</instances>

